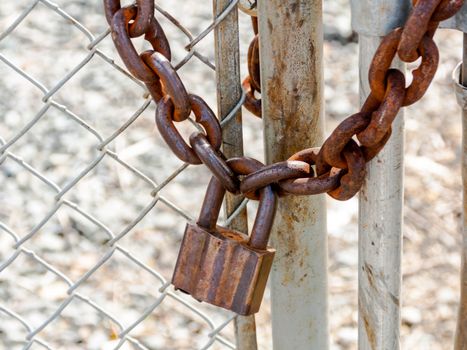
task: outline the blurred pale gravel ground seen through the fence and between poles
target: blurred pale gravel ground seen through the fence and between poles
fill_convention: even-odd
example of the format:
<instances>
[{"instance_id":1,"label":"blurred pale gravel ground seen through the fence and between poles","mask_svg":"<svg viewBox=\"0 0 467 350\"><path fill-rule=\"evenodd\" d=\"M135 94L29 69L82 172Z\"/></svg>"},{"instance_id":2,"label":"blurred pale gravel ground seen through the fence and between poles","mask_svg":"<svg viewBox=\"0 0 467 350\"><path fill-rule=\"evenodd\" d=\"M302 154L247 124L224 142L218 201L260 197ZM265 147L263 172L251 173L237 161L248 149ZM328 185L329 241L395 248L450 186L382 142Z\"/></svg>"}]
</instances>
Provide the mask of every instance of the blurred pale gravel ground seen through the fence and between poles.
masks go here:
<instances>
[{"instance_id":1,"label":"blurred pale gravel ground seen through the fence and between poles","mask_svg":"<svg viewBox=\"0 0 467 350\"><path fill-rule=\"evenodd\" d=\"M4 32L32 0L0 2ZM93 34L106 30L101 1L57 0L66 13ZM211 20L210 6L194 0L158 1L192 33ZM197 6L198 5L198 6ZM175 53L184 57L188 39L161 18ZM251 38L249 19L241 16L242 62ZM325 2L325 86L328 132L358 108L358 47L350 29L346 1ZM460 110L451 87L451 71L460 59L462 36L440 32L441 64L436 80L416 106L406 110L405 224L402 293L402 348L450 349L455 329L461 231ZM51 89L89 55L86 36L69 21L39 3L5 39L0 54ZM137 42L137 47L141 43ZM213 61L212 34L197 49ZM121 61L107 36L98 49ZM243 72L245 65L242 66ZM180 70L188 90L215 106L215 75L196 59ZM0 137L11 140L44 106L43 93L0 62ZM100 141L76 121L81 118L105 139L147 101L144 90L101 57L94 56L54 95L67 110L51 107L10 148L59 187L98 158ZM107 148L156 183L182 163L154 132L155 106L149 105ZM69 114L69 111L74 113ZM75 118L73 116L76 116ZM189 126L182 129L188 133ZM263 158L261 122L245 112L246 154ZM186 219L167 203L196 216L208 182L203 167L189 167L165 186L154 208L119 245L151 269L170 278ZM24 237L55 206L56 193L12 156L0 158L0 223ZM107 232L118 234L151 204L151 185L107 154L63 197L91 213L99 227L70 206L62 205L23 246L76 282L108 252ZM356 349L357 340L357 200L328 201L330 325L334 349ZM338 219L337 219L338 218ZM13 240L0 226L0 262L14 253ZM124 325L137 320L160 293L160 282L124 254L116 252L77 289ZM21 253L0 273L0 307L21 315L34 329L67 298L67 284ZM228 313L199 305L216 326ZM271 348L270 308L266 298L258 315L260 349ZM1 309L0 309L1 310ZM75 299L39 336L53 349L112 349L118 329L88 303ZM148 349L195 349L206 342L206 323L181 303L166 298L131 336ZM0 349L20 349L25 328L0 312ZM223 335L233 339L229 325ZM42 348L35 344L33 349ZM126 343L123 348L132 347ZM215 343L214 349L225 348Z\"/></svg>"}]
</instances>

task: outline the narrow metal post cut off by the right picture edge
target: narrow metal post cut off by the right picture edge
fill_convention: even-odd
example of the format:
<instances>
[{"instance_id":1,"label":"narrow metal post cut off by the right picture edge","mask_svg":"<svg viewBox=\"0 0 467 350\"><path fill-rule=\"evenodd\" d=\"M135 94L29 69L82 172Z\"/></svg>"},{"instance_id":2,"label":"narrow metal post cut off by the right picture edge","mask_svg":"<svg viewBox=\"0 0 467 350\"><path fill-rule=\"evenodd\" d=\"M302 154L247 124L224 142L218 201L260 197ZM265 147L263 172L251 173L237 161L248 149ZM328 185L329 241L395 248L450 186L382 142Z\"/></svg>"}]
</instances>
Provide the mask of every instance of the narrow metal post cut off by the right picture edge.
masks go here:
<instances>
[{"instance_id":1,"label":"narrow metal post cut off by the right picture edge","mask_svg":"<svg viewBox=\"0 0 467 350\"><path fill-rule=\"evenodd\" d=\"M462 183L463 183L463 236L462 236L462 266L461 266L461 298L455 350L467 349L467 3L459 13L450 20L443 22L442 27L460 30L464 33L462 63L453 74L457 100L462 108Z\"/></svg>"}]
</instances>

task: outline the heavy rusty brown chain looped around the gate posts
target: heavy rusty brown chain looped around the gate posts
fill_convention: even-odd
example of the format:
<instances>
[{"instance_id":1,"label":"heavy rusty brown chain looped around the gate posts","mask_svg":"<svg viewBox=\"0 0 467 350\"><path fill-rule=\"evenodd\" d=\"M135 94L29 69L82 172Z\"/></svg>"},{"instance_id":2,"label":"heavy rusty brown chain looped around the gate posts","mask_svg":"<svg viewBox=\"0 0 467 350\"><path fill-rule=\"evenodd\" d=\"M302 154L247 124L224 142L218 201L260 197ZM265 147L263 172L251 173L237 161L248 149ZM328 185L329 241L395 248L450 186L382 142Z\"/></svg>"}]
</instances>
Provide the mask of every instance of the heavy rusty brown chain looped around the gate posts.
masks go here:
<instances>
[{"instance_id":1,"label":"heavy rusty brown chain looped around the gate posts","mask_svg":"<svg viewBox=\"0 0 467 350\"><path fill-rule=\"evenodd\" d=\"M240 2L242 10L252 16L255 35L248 50L249 75L242 85L246 94L244 106L261 117L255 4ZM433 35L440 21L459 11L463 0L414 0L405 26L387 34L373 57L369 69L371 93L361 110L341 122L321 148L303 150L268 166L247 157L227 160L222 154L220 123L201 97L187 92L171 64L170 44L154 17L153 0L137 0L127 7L121 7L119 0L104 0L104 5L117 51L157 103L157 128L178 158L189 164L203 163L229 192L251 199L258 199L261 189L272 185L279 196L328 193L335 199L347 200L360 190L366 163L389 140L400 108L420 100L431 84L439 62ZM138 54L131 39L143 35L152 50ZM396 55L403 62L420 59L408 87L404 74L390 68ZM188 144L174 122L185 121L192 112L205 134L195 132Z\"/></svg>"}]
</instances>

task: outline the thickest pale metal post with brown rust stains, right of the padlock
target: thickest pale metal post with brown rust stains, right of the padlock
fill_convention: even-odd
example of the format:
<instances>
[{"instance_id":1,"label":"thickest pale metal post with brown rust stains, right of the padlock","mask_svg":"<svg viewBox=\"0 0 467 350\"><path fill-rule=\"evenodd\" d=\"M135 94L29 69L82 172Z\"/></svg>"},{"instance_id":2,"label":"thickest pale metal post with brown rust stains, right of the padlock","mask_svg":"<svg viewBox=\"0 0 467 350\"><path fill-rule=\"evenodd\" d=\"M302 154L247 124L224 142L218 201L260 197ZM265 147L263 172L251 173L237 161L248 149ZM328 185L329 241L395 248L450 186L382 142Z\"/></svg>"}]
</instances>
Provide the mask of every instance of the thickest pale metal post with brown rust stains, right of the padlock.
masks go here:
<instances>
[{"instance_id":1,"label":"thickest pale metal post with brown rust stains, right of the padlock","mask_svg":"<svg viewBox=\"0 0 467 350\"><path fill-rule=\"evenodd\" d=\"M259 0L266 160L286 160L323 140L322 0ZM272 241L276 350L329 347L325 197L278 205Z\"/></svg>"}]
</instances>

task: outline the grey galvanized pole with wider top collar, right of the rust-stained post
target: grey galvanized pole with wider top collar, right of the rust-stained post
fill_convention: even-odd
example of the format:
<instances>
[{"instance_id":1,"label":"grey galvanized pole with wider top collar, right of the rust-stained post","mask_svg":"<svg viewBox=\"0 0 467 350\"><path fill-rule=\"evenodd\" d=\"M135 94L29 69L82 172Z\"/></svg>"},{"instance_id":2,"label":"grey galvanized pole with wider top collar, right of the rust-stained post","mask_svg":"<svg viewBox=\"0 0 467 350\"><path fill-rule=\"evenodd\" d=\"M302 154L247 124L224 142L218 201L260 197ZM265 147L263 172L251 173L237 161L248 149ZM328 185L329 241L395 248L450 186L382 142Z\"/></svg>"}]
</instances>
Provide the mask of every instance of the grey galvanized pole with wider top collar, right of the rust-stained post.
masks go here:
<instances>
[{"instance_id":1,"label":"grey galvanized pole with wider top collar, right of the rust-stained post","mask_svg":"<svg viewBox=\"0 0 467 350\"><path fill-rule=\"evenodd\" d=\"M382 36L403 24L409 0L354 0L352 25L359 34L361 103L370 93L368 68ZM404 71L404 65L394 62ZM404 118L391 140L367 165L359 195L360 350L400 348Z\"/></svg>"}]
</instances>

